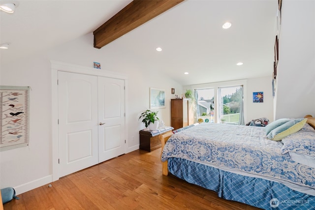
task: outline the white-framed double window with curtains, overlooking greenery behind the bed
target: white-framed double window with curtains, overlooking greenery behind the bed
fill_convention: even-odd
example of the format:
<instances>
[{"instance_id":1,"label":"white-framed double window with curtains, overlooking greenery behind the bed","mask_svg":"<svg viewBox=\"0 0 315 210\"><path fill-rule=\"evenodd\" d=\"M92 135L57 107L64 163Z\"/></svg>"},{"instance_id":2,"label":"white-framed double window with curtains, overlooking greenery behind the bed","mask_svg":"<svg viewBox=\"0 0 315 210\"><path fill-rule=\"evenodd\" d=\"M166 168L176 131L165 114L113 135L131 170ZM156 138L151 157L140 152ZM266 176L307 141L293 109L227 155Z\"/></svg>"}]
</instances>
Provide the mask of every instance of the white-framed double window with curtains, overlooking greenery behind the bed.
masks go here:
<instances>
[{"instance_id":1,"label":"white-framed double window with curtains, overlooking greenery behind the bed","mask_svg":"<svg viewBox=\"0 0 315 210\"><path fill-rule=\"evenodd\" d=\"M244 101L247 99L246 87L246 80L190 86L189 88L194 90L195 122L201 119L204 122L221 123L222 118L225 123L244 125L246 115L246 103ZM207 104L203 101L212 103ZM202 108L202 105L205 108Z\"/></svg>"}]
</instances>

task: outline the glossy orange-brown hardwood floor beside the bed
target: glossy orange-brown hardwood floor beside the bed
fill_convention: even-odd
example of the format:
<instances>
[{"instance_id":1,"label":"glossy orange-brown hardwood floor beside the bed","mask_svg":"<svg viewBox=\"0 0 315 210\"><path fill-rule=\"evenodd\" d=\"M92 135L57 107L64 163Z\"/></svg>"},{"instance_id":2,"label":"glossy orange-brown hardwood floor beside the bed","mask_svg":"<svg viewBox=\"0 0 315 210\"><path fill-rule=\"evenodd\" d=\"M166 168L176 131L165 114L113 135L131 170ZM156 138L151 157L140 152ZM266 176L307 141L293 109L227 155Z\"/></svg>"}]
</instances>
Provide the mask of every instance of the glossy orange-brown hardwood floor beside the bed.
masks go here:
<instances>
[{"instance_id":1,"label":"glossy orange-brown hardwood floor beside the bed","mask_svg":"<svg viewBox=\"0 0 315 210\"><path fill-rule=\"evenodd\" d=\"M136 150L18 195L4 210L258 210L172 175L160 149Z\"/></svg>"}]
</instances>

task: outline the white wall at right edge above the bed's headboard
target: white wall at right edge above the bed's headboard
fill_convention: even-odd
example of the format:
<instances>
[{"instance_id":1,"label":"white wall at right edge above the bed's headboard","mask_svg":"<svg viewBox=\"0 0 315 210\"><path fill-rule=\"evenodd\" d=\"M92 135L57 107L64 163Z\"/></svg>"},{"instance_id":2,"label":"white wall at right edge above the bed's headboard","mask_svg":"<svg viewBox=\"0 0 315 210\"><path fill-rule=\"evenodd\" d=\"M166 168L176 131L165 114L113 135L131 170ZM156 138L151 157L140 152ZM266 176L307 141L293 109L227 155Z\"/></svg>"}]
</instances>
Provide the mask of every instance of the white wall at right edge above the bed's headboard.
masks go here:
<instances>
[{"instance_id":1,"label":"white wall at right edge above the bed's headboard","mask_svg":"<svg viewBox=\"0 0 315 210\"><path fill-rule=\"evenodd\" d=\"M283 0L275 119L315 116L315 1Z\"/></svg>"}]
</instances>

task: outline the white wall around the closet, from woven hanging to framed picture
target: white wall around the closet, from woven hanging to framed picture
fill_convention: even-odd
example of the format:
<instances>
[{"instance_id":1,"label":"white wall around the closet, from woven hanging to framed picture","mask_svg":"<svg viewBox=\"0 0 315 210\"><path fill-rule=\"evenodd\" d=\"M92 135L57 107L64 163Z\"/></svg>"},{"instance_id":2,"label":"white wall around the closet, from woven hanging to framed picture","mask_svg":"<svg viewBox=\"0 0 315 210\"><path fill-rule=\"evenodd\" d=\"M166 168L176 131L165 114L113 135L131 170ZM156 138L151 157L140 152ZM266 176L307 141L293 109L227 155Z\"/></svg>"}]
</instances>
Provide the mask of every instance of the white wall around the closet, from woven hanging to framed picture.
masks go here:
<instances>
[{"instance_id":1,"label":"white wall around the closet, from woven hanging to framed picture","mask_svg":"<svg viewBox=\"0 0 315 210\"><path fill-rule=\"evenodd\" d=\"M121 60L122 57L127 60ZM141 58L126 56L120 49L108 45L93 47L93 34L87 34L15 62L1 61L1 85L31 86L30 92L30 145L0 152L0 188L12 186L17 194L52 181L52 99L50 60L83 66L101 63L102 69L118 71L128 76L126 126L128 151L139 148L139 130L144 128L139 115L149 109L150 87L166 90L166 108L158 109L158 117L170 124L171 88L182 92L182 86L172 79L159 75L150 67L141 66ZM169 102L169 103L168 103Z\"/></svg>"}]
</instances>

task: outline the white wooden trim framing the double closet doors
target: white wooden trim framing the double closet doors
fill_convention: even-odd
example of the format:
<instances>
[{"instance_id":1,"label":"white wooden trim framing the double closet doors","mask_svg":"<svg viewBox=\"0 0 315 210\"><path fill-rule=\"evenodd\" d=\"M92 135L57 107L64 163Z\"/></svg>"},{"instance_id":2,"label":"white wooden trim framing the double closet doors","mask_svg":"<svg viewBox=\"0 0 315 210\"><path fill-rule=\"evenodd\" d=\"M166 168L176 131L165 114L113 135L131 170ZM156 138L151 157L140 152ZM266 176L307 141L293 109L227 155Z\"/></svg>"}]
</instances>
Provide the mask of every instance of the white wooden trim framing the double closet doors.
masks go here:
<instances>
[{"instance_id":1,"label":"white wooden trim framing the double closet doors","mask_svg":"<svg viewBox=\"0 0 315 210\"><path fill-rule=\"evenodd\" d=\"M59 146L58 146L58 71L65 71L65 72L72 72L78 74L87 74L93 76L102 76L102 77L109 77L115 79L122 79L125 80L125 153L130 151L128 147L128 109L127 109L127 98L128 98L128 77L126 74L122 74L119 72L108 71L108 70L101 70L87 66L81 66L71 63L60 62L56 60L50 60L51 62L51 75L52 75L52 166L53 166L53 175L52 180L56 181L59 180Z\"/></svg>"}]
</instances>

